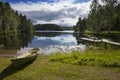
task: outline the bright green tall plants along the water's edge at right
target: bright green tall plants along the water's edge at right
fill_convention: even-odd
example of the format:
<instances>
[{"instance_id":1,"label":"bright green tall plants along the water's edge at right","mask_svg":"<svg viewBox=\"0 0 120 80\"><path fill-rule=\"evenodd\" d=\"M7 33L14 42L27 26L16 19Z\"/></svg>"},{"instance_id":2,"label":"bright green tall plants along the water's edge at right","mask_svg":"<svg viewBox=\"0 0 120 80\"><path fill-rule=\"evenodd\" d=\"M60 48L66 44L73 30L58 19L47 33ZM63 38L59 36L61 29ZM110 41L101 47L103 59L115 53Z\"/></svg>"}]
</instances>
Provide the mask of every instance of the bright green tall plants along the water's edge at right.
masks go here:
<instances>
[{"instance_id":1,"label":"bright green tall plants along the water's edge at right","mask_svg":"<svg viewBox=\"0 0 120 80\"><path fill-rule=\"evenodd\" d=\"M120 55L118 51L86 50L85 52L73 51L72 53L55 53L50 56L54 62L62 62L77 65L120 67Z\"/></svg>"}]
</instances>

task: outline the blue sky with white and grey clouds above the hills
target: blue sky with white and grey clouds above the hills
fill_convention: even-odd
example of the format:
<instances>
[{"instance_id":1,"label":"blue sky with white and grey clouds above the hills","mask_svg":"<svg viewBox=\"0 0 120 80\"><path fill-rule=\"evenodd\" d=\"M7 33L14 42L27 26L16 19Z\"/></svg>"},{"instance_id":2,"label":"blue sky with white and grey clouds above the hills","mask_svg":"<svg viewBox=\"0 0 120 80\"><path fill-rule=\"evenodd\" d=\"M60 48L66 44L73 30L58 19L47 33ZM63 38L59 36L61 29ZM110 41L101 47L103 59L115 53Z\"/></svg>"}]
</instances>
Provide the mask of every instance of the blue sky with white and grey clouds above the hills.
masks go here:
<instances>
[{"instance_id":1,"label":"blue sky with white and grey clouds above the hills","mask_svg":"<svg viewBox=\"0 0 120 80\"><path fill-rule=\"evenodd\" d=\"M14 10L26 15L33 24L73 26L79 16L87 17L91 0L4 0Z\"/></svg>"}]
</instances>

